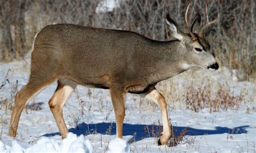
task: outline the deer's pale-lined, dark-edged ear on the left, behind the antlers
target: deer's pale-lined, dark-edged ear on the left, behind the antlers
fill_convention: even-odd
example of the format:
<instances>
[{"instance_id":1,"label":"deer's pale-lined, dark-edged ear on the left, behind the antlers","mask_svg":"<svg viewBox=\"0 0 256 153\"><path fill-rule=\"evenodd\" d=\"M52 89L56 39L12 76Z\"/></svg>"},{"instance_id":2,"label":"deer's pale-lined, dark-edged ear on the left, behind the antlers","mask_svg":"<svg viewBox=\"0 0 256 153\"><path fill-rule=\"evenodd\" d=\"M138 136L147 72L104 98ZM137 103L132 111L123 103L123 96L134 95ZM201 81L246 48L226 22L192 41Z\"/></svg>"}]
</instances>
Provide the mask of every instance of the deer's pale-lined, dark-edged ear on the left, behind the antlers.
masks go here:
<instances>
[{"instance_id":1,"label":"deer's pale-lined, dark-edged ear on the left, behind the antlers","mask_svg":"<svg viewBox=\"0 0 256 153\"><path fill-rule=\"evenodd\" d=\"M183 31L181 31L181 28L177 25L177 23L170 18L169 14L167 14L165 21L169 25L172 36L178 40L183 39Z\"/></svg>"}]
</instances>

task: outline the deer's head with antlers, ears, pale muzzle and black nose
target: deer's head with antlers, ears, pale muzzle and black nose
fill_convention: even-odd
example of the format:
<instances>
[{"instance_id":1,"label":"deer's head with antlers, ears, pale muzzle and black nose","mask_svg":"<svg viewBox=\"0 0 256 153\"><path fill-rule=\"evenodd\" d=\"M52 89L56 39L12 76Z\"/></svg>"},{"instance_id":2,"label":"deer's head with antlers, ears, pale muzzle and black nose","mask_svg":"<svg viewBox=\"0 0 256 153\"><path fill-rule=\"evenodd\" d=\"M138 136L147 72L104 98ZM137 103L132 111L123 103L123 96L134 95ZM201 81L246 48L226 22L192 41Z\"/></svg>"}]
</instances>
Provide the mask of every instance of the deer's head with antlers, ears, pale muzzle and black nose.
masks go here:
<instances>
[{"instance_id":1,"label":"deer's head with antlers, ears, pale muzzle and black nose","mask_svg":"<svg viewBox=\"0 0 256 153\"><path fill-rule=\"evenodd\" d=\"M207 21L206 24L201 27L201 17L199 13L194 16L192 24L190 24L187 15L189 8L190 4L188 4L185 13L187 30L184 30L176 22L174 22L174 20L170 18L169 14L166 16L166 23L169 25L172 36L180 41L178 51L183 52L182 54L184 55L182 65L185 69L188 69L192 66L199 66L211 70L217 70L219 65L210 51L210 44L204 38L203 32L205 31L206 27L217 21L219 15L216 19L209 22L206 4Z\"/></svg>"}]
</instances>

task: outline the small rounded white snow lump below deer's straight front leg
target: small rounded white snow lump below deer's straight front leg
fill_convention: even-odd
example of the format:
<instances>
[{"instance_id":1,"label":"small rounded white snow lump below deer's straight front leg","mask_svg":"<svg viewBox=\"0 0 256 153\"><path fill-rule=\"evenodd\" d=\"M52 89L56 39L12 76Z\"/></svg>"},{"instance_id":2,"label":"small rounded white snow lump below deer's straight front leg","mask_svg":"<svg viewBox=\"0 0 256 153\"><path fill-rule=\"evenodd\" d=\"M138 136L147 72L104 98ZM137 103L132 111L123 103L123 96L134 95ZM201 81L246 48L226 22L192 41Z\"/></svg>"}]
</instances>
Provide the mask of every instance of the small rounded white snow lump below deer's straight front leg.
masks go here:
<instances>
[{"instance_id":1,"label":"small rounded white snow lump below deer's straight front leg","mask_svg":"<svg viewBox=\"0 0 256 153\"><path fill-rule=\"evenodd\" d=\"M114 138L109 142L109 150L107 153L130 152L129 144L122 138Z\"/></svg>"}]
</instances>

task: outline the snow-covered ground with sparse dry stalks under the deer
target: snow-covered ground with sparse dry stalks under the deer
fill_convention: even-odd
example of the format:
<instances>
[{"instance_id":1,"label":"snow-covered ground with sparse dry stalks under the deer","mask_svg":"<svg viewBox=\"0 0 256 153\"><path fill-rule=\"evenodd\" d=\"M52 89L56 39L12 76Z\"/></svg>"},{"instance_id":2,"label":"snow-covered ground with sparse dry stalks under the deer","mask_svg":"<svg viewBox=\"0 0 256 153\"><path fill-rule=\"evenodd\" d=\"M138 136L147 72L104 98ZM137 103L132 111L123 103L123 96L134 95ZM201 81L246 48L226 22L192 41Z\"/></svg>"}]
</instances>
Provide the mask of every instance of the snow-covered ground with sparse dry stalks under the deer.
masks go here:
<instances>
[{"instance_id":1,"label":"snow-covered ground with sparse dry stalks under the deer","mask_svg":"<svg viewBox=\"0 0 256 153\"><path fill-rule=\"evenodd\" d=\"M239 108L210 113L207 108L199 112L186 109L183 85L190 81L191 72L178 75L169 82L177 82L177 98L166 98L173 130L177 134L187 128L184 140L176 147L158 146L157 137L161 116L159 108L138 95L126 96L124 138L115 139L116 125L109 91L78 86L64 107L64 119L69 135L62 140L48 106L56 83L32 99L19 121L16 138L8 136L11 105L16 86L19 91L29 78L30 61L0 63L0 152L255 152L256 111L255 84L238 82L227 68L218 72L200 69L198 79L226 80L233 93L245 92ZM10 69L10 71L8 71ZM8 73L8 74L7 74ZM209 77L210 76L210 77ZM161 87L161 90L164 88ZM180 92L181 91L181 92ZM165 93L163 93L165 94ZM166 95L166 94L165 94ZM175 94L174 94L175 95ZM167 95L168 96L168 95ZM159 122L160 120L160 122ZM73 134L72 134L73 133ZM76 135L74 135L76 134ZM83 134L83 135L82 135Z\"/></svg>"}]
</instances>

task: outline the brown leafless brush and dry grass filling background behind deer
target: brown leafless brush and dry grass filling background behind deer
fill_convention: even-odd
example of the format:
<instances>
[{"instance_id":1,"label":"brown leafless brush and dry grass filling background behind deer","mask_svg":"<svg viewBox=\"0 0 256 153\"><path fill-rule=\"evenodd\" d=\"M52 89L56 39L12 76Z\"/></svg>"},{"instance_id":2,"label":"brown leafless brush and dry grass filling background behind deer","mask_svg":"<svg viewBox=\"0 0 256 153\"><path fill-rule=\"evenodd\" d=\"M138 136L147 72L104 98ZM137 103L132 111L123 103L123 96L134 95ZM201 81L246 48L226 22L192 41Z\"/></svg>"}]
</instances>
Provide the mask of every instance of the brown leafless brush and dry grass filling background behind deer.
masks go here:
<instances>
[{"instance_id":1,"label":"brown leafless brush and dry grass filling background behind deer","mask_svg":"<svg viewBox=\"0 0 256 153\"><path fill-rule=\"evenodd\" d=\"M22 59L31 50L33 37L44 26L55 23L72 23L109 29L136 31L155 40L168 40L169 30L165 16L181 25L188 3L192 3L193 17L201 13L204 22L205 3L210 19L220 18L206 30L213 52L222 66L237 69L240 80L255 78L255 1L123 1L109 12L97 11L103 1L0 1L0 61ZM105 1L107 3L107 1Z\"/></svg>"}]
</instances>

